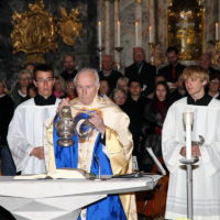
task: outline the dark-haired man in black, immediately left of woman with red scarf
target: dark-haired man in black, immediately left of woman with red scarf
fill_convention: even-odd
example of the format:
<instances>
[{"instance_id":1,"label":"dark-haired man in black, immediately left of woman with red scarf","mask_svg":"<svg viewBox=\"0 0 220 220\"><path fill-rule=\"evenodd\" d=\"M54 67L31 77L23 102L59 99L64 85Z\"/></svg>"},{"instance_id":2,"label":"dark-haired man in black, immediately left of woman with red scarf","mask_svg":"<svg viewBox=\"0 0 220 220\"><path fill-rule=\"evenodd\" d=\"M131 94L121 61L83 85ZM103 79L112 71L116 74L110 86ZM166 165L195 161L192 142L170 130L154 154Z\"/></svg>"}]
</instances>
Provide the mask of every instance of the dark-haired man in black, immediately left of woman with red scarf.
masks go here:
<instances>
[{"instance_id":1,"label":"dark-haired man in black, immediately left of woman with red scarf","mask_svg":"<svg viewBox=\"0 0 220 220\"><path fill-rule=\"evenodd\" d=\"M150 99L142 96L142 82L138 79L129 81L129 91L124 111L130 118L129 130L132 133L134 142L133 155L138 156L140 144L143 139L141 124L143 122L144 108Z\"/></svg>"}]
</instances>

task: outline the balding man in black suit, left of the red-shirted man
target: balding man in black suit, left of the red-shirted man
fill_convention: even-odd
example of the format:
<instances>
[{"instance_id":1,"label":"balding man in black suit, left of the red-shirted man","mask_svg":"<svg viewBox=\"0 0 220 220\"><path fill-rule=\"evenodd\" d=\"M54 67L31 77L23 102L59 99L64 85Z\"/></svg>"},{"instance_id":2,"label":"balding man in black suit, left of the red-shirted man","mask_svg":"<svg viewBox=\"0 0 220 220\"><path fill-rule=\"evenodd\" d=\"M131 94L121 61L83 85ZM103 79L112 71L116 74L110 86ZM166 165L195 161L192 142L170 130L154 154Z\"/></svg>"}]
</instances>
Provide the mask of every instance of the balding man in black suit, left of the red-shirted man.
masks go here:
<instances>
[{"instance_id":1,"label":"balding man in black suit, left of the red-shirted man","mask_svg":"<svg viewBox=\"0 0 220 220\"><path fill-rule=\"evenodd\" d=\"M133 48L133 64L125 68L124 75L129 80L138 79L143 85L145 96L154 90L156 67L145 62L145 53L142 47Z\"/></svg>"}]
</instances>

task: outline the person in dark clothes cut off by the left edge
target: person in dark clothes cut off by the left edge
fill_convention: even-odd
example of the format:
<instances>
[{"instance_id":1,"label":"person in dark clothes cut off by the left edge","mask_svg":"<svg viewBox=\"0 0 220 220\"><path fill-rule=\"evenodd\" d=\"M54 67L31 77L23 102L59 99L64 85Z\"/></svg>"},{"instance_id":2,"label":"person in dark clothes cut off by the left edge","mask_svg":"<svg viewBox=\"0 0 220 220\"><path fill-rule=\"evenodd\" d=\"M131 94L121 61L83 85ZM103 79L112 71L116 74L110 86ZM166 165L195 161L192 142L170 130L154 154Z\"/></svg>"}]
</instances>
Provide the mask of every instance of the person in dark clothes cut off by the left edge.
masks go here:
<instances>
[{"instance_id":1,"label":"person in dark clothes cut off by the left edge","mask_svg":"<svg viewBox=\"0 0 220 220\"><path fill-rule=\"evenodd\" d=\"M1 175L14 176L15 166L7 142L9 123L13 116L13 101L9 96L6 82L0 79L0 154L1 154Z\"/></svg>"}]
</instances>

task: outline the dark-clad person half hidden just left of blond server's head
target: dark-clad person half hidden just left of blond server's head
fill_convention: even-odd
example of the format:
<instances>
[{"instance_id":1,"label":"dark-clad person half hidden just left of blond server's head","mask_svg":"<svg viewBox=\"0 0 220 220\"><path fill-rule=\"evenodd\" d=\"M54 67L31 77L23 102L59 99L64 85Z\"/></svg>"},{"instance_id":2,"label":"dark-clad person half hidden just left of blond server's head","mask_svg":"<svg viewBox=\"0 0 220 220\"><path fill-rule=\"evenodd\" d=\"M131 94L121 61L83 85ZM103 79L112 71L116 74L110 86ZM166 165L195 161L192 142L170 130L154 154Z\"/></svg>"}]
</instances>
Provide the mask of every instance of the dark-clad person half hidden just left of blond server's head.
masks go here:
<instances>
[{"instance_id":1,"label":"dark-clad person half hidden just left of blond server's head","mask_svg":"<svg viewBox=\"0 0 220 220\"><path fill-rule=\"evenodd\" d=\"M174 89L170 92L170 103L174 103L175 101L186 97L188 94L186 91L186 87L185 87L185 80L183 75L180 74L178 76L178 80L177 80L177 88Z\"/></svg>"}]
</instances>

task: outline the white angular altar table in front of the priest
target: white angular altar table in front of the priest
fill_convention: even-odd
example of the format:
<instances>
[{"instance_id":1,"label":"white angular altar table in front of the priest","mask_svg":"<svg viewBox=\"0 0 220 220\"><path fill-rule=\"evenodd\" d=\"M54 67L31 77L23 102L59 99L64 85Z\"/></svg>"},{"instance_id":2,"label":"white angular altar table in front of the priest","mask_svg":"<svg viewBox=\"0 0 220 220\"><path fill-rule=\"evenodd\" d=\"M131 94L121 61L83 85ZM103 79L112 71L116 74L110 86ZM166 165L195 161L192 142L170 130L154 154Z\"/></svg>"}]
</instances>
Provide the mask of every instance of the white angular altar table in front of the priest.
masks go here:
<instances>
[{"instance_id":1,"label":"white angular altar table in front of the priest","mask_svg":"<svg viewBox=\"0 0 220 220\"><path fill-rule=\"evenodd\" d=\"M160 175L141 178L14 180L0 176L0 206L16 220L74 220L80 208L110 194L153 189Z\"/></svg>"}]
</instances>

